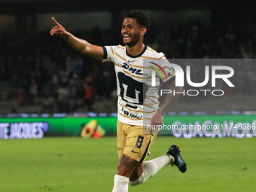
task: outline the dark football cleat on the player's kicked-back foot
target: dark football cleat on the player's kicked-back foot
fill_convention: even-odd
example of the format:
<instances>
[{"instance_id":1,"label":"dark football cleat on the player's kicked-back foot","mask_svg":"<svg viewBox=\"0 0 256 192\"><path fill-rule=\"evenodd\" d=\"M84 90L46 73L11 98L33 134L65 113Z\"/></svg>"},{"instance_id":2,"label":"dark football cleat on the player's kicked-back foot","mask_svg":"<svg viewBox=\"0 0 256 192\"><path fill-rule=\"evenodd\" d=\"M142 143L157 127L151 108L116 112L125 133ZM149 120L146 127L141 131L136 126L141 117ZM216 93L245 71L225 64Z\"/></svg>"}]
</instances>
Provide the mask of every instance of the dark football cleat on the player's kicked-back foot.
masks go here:
<instances>
[{"instance_id":1,"label":"dark football cleat on the player's kicked-back foot","mask_svg":"<svg viewBox=\"0 0 256 192\"><path fill-rule=\"evenodd\" d=\"M182 159L180 152L181 150L179 150L179 146L174 144L169 148L166 154L172 155L174 158L174 162L171 164L172 166L178 166L178 170L181 172L186 172L187 164L184 162L184 159Z\"/></svg>"}]
</instances>

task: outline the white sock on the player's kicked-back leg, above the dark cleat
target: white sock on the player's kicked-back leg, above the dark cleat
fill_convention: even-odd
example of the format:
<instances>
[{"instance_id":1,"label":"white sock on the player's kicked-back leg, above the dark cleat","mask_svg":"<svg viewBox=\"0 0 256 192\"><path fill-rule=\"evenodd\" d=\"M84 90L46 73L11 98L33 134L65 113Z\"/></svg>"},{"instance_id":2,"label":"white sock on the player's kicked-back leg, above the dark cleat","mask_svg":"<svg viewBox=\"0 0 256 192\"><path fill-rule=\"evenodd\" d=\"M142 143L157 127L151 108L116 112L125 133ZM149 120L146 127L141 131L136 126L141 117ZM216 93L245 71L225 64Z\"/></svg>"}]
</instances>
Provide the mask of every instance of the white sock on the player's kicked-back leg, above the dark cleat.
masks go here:
<instances>
[{"instance_id":1,"label":"white sock on the player's kicked-back leg, above the dark cleat","mask_svg":"<svg viewBox=\"0 0 256 192\"><path fill-rule=\"evenodd\" d=\"M154 160L146 161L143 166L144 171L142 172L142 175L136 181L130 181L130 185L136 186L138 184L142 184L148 178L152 177L157 172L159 172L160 169L163 168L163 166L166 166L169 163L172 163L173 161L174 158L166 154Z\"/></svg>"}]
</instances>

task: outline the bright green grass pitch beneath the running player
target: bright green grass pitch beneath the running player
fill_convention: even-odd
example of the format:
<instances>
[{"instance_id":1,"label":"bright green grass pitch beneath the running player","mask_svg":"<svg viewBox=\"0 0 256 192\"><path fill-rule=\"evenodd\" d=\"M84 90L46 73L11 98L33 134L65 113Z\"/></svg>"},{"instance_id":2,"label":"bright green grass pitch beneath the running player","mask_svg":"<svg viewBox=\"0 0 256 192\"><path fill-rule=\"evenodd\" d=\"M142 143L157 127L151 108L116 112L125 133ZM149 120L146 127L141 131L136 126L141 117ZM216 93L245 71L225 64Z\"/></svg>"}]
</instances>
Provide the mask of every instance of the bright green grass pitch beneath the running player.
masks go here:
<instances>
[{"instance_id":1,"label":"bright green grass pitch beneath the running player","mask_svg":"<svg viewBox=\"0 0 256 192\"><path fill-rule=\"evenodd\" d=\"M188 169L166 166L129 191L255 191L256 148L251 139L176 139L158 136L147 160L181 146ZM113 188L116 138L0 140L0 191L102 191Z\"/></svg>"}]
</instances>

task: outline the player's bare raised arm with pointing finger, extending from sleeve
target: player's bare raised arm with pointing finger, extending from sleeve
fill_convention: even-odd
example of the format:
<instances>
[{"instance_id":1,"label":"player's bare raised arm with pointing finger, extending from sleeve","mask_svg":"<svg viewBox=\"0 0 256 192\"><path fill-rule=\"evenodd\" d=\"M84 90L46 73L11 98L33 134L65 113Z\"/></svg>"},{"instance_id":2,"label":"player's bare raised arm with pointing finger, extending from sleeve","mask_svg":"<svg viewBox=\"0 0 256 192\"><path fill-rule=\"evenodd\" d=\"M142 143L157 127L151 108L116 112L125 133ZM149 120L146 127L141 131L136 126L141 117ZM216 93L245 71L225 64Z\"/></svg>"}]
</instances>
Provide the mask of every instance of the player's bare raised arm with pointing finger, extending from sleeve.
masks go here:
<instances>
[{"instance_id":1,"label":"player's bare raised arm with pointing finger, extending from sleeve","mask_svg":"<svg viewBox=\"0 0 256 192\"><path fill-rule=\"evenodd\" d=\"M55 26L50 30L50 35L56 35L59 38L65 39L70 46L78 51L79 53L85 54L87 56L92 56L96 59L102 60L104 56L103 48L97 45L93 45L85 41L84 39L77 38L66 29L61 26L53 17L51 17Z\"/></svg>"}]
</instances>

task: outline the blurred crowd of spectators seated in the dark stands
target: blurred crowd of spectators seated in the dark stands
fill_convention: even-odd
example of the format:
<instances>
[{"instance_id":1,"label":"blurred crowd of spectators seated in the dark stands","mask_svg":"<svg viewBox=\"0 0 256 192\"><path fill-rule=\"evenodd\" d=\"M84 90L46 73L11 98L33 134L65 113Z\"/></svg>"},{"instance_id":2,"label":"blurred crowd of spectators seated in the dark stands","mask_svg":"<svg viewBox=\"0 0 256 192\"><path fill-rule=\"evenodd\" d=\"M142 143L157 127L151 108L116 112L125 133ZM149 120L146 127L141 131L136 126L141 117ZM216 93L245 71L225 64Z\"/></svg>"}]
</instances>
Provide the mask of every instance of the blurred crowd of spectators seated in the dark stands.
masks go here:
<instances>
[{"instance_id":1,"label":"blurred crowd of spectators seated in the dark stands","mask_svg":"<svg viewBox=\"0 0 256 192\"><path fill-rule=\"evenodd\" d=\"M120 31L103 31L96 26L72 32L92 44L122 44ZM151 29L145 44L166 54L166 58L248 59L256 58L256 26L237 24L206 26L199 22ZM110 63L81 56L49 32L29 35L0 35L0 99L17 98L19 105L41 105L42 112L68 112L93 108L93 101L115 101L116 80ZM220 88L229 95L255 93L256 65L233 64L231 79L236 88ZM204 69L194 66L191 80L203 81ZM198 78L198 80L197 80ZM186 99L185 99L186 100ZM187 100L189 102L189 100Z\"/></svg>"}]
</instances>

